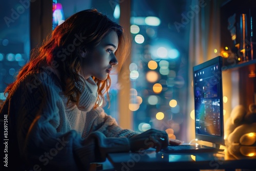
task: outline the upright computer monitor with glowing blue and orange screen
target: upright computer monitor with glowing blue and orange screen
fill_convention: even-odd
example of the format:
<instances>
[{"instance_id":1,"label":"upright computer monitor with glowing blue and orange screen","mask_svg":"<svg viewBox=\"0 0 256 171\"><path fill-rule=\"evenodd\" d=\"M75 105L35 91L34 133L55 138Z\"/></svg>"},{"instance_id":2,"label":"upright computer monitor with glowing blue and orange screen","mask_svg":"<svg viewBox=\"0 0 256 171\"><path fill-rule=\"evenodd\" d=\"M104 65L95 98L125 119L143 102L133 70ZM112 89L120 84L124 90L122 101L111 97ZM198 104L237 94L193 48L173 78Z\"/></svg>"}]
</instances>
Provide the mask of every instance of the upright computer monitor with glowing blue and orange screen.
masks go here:
<instances>
[{"instance_id":1,"label":"upright computer monitor with glowing blue and orange screen","mask_svg":"<svg viewBox=\"0 0 256 171\"><path fill-rule=\"evenodd\" d=\"M193 67L196 138L224 144L222 57Z\"/></svg>"}]
</instances>

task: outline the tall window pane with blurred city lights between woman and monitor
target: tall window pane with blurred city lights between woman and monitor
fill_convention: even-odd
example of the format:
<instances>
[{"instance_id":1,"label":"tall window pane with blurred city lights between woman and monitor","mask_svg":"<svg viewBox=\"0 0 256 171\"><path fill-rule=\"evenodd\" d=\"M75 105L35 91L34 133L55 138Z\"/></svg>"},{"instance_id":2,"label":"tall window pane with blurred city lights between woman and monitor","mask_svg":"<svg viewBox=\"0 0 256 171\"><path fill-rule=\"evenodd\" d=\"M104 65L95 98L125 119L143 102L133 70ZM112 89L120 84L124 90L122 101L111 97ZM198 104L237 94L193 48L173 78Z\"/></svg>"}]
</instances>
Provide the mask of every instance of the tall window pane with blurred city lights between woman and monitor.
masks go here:
<instances>
[{"instance_id":1,"label":"tall window pane with blurred city lights between woman and monitor","mask_svg":"<svg viewBox=\"0 0 256 171\"><path fill-rule=\"evenodd\" d=\"M187 1L132 1L129 108L136 131L154 128L183 139L189 26L177 29L174 23L186 5Z\"/></svg>"}]
</instances>

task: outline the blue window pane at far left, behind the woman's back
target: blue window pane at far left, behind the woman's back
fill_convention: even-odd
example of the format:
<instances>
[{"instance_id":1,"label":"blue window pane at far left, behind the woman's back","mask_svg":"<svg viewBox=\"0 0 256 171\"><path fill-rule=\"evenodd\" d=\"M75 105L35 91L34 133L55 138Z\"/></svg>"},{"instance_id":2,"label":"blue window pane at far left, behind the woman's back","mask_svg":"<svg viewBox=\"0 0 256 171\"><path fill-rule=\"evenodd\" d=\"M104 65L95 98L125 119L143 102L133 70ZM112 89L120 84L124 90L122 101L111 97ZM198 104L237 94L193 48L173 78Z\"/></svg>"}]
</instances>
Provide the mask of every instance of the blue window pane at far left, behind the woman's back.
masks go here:
<instances>
[{"instance_id":1,"label":"blue window pane at far left, behind the woman's back","mask_svg":"<svg viewBox=\"0 0 256 171\"><path fill-rule=\"evenodd\" d=\"M7 84L29 60L30 10L24 2L4 1L0 13L0 100L6 99L3 92Z\"/></svg>"}]
</instances>

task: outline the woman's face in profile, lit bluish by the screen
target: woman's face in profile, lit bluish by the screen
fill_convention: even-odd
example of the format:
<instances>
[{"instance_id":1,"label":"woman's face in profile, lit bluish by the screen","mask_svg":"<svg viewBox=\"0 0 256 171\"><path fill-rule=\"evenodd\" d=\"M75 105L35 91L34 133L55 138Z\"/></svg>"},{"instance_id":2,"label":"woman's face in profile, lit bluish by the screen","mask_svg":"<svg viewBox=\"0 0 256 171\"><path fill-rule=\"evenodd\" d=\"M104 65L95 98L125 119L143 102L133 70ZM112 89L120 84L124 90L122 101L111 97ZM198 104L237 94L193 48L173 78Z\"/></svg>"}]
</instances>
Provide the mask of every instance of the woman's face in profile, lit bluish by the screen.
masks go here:
<instances>
[{"instance_id":1,"label":"woman's face in profile, lit bluish by the screen","mask_svg":"<svg viewBox=\"0 0 256 171\"><path fill-rule=\"evenodd\" d=\"M113 66L118 63L115 56L117 47L118 36L115 31L111 31L90 54L81 53L81 56L84 56L82 58L81 75L85 79L95 76L99 80L105 80L108 74L111 73Z\"/></svg>"}]
</instances>

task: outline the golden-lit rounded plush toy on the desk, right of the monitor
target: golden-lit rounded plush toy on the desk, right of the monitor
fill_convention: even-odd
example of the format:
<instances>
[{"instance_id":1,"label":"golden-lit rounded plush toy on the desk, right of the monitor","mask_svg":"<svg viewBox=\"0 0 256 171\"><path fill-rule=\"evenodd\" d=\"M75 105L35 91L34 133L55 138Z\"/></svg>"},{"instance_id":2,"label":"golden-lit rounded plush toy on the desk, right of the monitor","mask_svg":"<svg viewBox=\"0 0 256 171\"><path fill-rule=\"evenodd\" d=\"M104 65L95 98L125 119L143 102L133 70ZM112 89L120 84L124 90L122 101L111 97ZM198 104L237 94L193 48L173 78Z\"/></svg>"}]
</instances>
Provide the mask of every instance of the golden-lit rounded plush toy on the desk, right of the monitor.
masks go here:
<instances>
[{"instance_id":1,"label":"golden-lit rounded plush toy on the desk, right of the monitor","mask_svg":"<svg viewBox=\"0 0 256 171\"><path fill-rule=\"evenodd\" d=\"M239 146L244 156L256 155L256 104L249 105L246 112L243 105L236 106L224 124L226 146Z\"/></svg>"}]
</instances>

